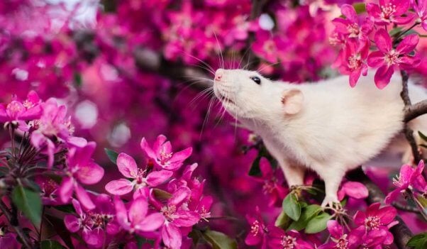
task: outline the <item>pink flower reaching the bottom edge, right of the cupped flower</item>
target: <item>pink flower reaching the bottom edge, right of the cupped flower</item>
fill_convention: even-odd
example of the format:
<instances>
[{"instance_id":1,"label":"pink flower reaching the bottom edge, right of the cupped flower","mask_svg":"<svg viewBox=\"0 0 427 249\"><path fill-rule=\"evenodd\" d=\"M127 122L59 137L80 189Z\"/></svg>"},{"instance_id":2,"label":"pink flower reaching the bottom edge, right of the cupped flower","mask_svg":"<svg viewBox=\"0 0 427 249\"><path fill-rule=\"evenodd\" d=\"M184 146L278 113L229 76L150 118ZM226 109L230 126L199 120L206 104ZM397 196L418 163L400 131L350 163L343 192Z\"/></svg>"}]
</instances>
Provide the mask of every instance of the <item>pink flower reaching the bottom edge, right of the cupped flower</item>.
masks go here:
<instances>
[{"instance_id":1,"label":"pink flower reaching the bottom edge, right of the cupped flower","mask_svg":"<svg viewBox=\"0 0 427 249\"><path fill-rule=\"evenodd\" d=\"M169 248L181 248L182 230L180 228L189 228L199 222L199 214L187 209L187 201L190 194L191 191L188 187L180 187L167 200L167 204L157 201L153 197L153 193L150 195L150 203L164 216L161 234L163 243Z\"/></svg>"}]
</instances>

